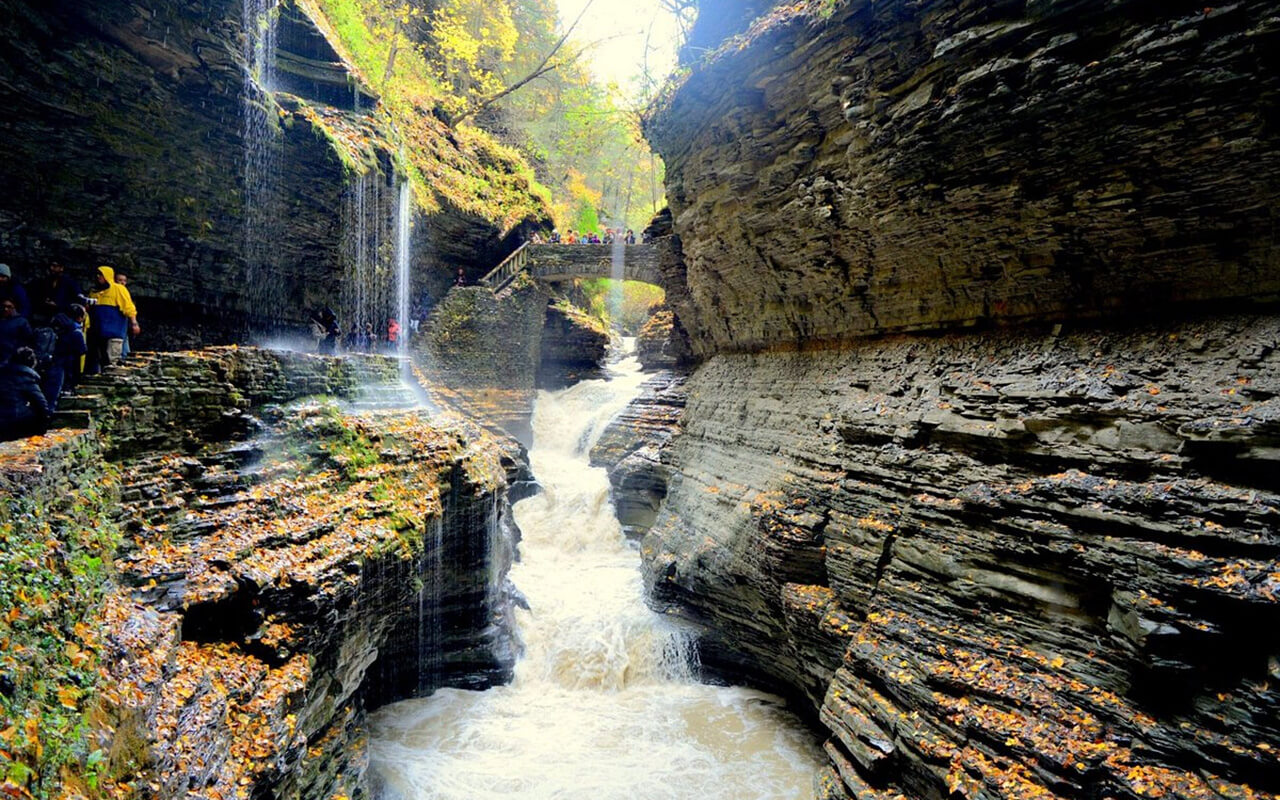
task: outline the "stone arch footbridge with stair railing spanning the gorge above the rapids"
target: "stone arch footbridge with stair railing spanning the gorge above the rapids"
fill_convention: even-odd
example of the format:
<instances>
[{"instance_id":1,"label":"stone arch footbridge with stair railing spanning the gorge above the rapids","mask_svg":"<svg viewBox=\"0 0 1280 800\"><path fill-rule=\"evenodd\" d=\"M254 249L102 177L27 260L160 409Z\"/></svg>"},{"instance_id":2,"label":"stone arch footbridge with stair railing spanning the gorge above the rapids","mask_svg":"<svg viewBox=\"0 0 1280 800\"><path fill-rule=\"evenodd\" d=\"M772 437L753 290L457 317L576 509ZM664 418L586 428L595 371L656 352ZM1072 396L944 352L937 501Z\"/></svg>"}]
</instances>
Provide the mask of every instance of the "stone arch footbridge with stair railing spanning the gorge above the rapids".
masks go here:
<instances>
[{"instance_id":1,"label":"stone arch footbridge with stair railing spanning the gorge above the rapids","mask_svg":"<svg viewBox=\"0 0 1280 800\"><path fill-rule=\"evenodd\" d=\"M480 279L481 285L502 291L520 273L539 280L562 283L576 278L617 278L614 244L525 244L511 253L497 269ZM658 248L653 244L625 244L622 278L662 285L658 273Z\"/></svg>"}]
</instances>

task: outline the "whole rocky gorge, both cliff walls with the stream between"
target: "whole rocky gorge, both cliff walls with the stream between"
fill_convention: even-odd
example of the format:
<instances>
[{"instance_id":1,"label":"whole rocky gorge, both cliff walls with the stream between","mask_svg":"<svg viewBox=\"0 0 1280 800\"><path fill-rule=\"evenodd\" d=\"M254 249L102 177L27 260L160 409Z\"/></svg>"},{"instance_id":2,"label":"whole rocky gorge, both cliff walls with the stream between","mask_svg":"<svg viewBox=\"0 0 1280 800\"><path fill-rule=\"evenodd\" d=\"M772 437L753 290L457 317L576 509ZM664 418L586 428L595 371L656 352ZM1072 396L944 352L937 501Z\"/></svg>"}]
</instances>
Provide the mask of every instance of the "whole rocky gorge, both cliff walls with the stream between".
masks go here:
<instances>
[{"instance_id":1,"label":"whole rocky gorge, both cliff walls with the stream between","mask_svg":"<svg viewBox=\"0 0 1280 800\"><path fill-rule=\"evenodd\" d=\"M641 375L591 246L480 280L556 214L333 8L278 9L255 195L241 4L0 0L0 257L154 323L0 445L3 794L1280 796L1280 14L698 5ZM399 353L252 347L421 294ZM780 703L763 762L654 733Z\"/></svg>"}]
</instances>

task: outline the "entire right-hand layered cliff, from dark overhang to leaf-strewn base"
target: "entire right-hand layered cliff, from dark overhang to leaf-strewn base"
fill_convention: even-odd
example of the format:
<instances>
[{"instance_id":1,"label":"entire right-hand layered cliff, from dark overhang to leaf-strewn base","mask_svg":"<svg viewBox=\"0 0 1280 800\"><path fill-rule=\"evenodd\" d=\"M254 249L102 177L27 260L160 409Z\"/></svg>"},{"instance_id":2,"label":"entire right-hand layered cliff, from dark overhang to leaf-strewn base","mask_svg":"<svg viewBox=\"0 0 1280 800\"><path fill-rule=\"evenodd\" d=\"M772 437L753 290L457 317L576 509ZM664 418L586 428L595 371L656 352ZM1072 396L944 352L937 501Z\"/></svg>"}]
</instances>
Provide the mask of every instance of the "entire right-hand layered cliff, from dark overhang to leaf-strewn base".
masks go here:
<instances>
[{"instance_id":1,"label":"entire right-hand layered cliff, from dark overhang to leaf-strewn base","mask_svg":"<svg viewBox=\"0 0 1280 800\"><path fill-rule=\"evenodd\" d=\"M703 360L614 468L654 600L823 800L1275 797L1272 5L742 22L646 123Z\"/></svg>"}]
</instances>

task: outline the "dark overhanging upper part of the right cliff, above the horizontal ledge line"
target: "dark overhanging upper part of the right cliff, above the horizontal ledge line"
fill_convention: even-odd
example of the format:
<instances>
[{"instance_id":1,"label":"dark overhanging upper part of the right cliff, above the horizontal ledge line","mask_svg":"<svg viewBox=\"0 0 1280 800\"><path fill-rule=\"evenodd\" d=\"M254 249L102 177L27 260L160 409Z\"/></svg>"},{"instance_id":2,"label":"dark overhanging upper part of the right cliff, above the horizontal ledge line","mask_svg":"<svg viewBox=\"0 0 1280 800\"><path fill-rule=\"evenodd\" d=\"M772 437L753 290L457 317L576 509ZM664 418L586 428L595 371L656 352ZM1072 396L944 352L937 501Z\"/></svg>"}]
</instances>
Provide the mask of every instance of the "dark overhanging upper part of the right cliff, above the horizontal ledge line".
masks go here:
<instances>
[{"instance_id":1,"label":"dark overhanging upper part of the right cliff, above the horizontal ledge line","mask_svg":"<svg viewBox=\"0 0 1280 800\"><path fill-rule=\"evenodd\" d=\"M708 355L1274 300L1277 44L1263 0L778 4L646 122L668 301Z\"/></svg>"}]
</instances>

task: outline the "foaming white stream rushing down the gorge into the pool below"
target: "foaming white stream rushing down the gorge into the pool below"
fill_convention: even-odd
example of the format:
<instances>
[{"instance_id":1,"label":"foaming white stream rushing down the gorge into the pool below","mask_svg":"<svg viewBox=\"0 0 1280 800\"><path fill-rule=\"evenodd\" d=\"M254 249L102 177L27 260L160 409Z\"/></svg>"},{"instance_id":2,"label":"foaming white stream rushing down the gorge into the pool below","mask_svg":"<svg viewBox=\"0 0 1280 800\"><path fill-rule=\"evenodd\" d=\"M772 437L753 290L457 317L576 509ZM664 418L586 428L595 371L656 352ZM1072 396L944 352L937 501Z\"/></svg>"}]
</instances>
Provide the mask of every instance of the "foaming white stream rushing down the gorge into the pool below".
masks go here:
<instances>
[{"instance_id":1,"label":"foaming white stream rushing down the gorge into the pool below","mask_svg":"<svg viewBox=\"0 0 1280 800\"><path fill-rule=\"evenodd\" d=\"M644 604L603 470L588 452L637 392L634 358L541 393L516 506L512 579L529 598L509 686L440 690L375 714L384 800L792 800L812 796L813 735L765 694L696 684L686 635Z\"/></svg>"}]
</instances>

